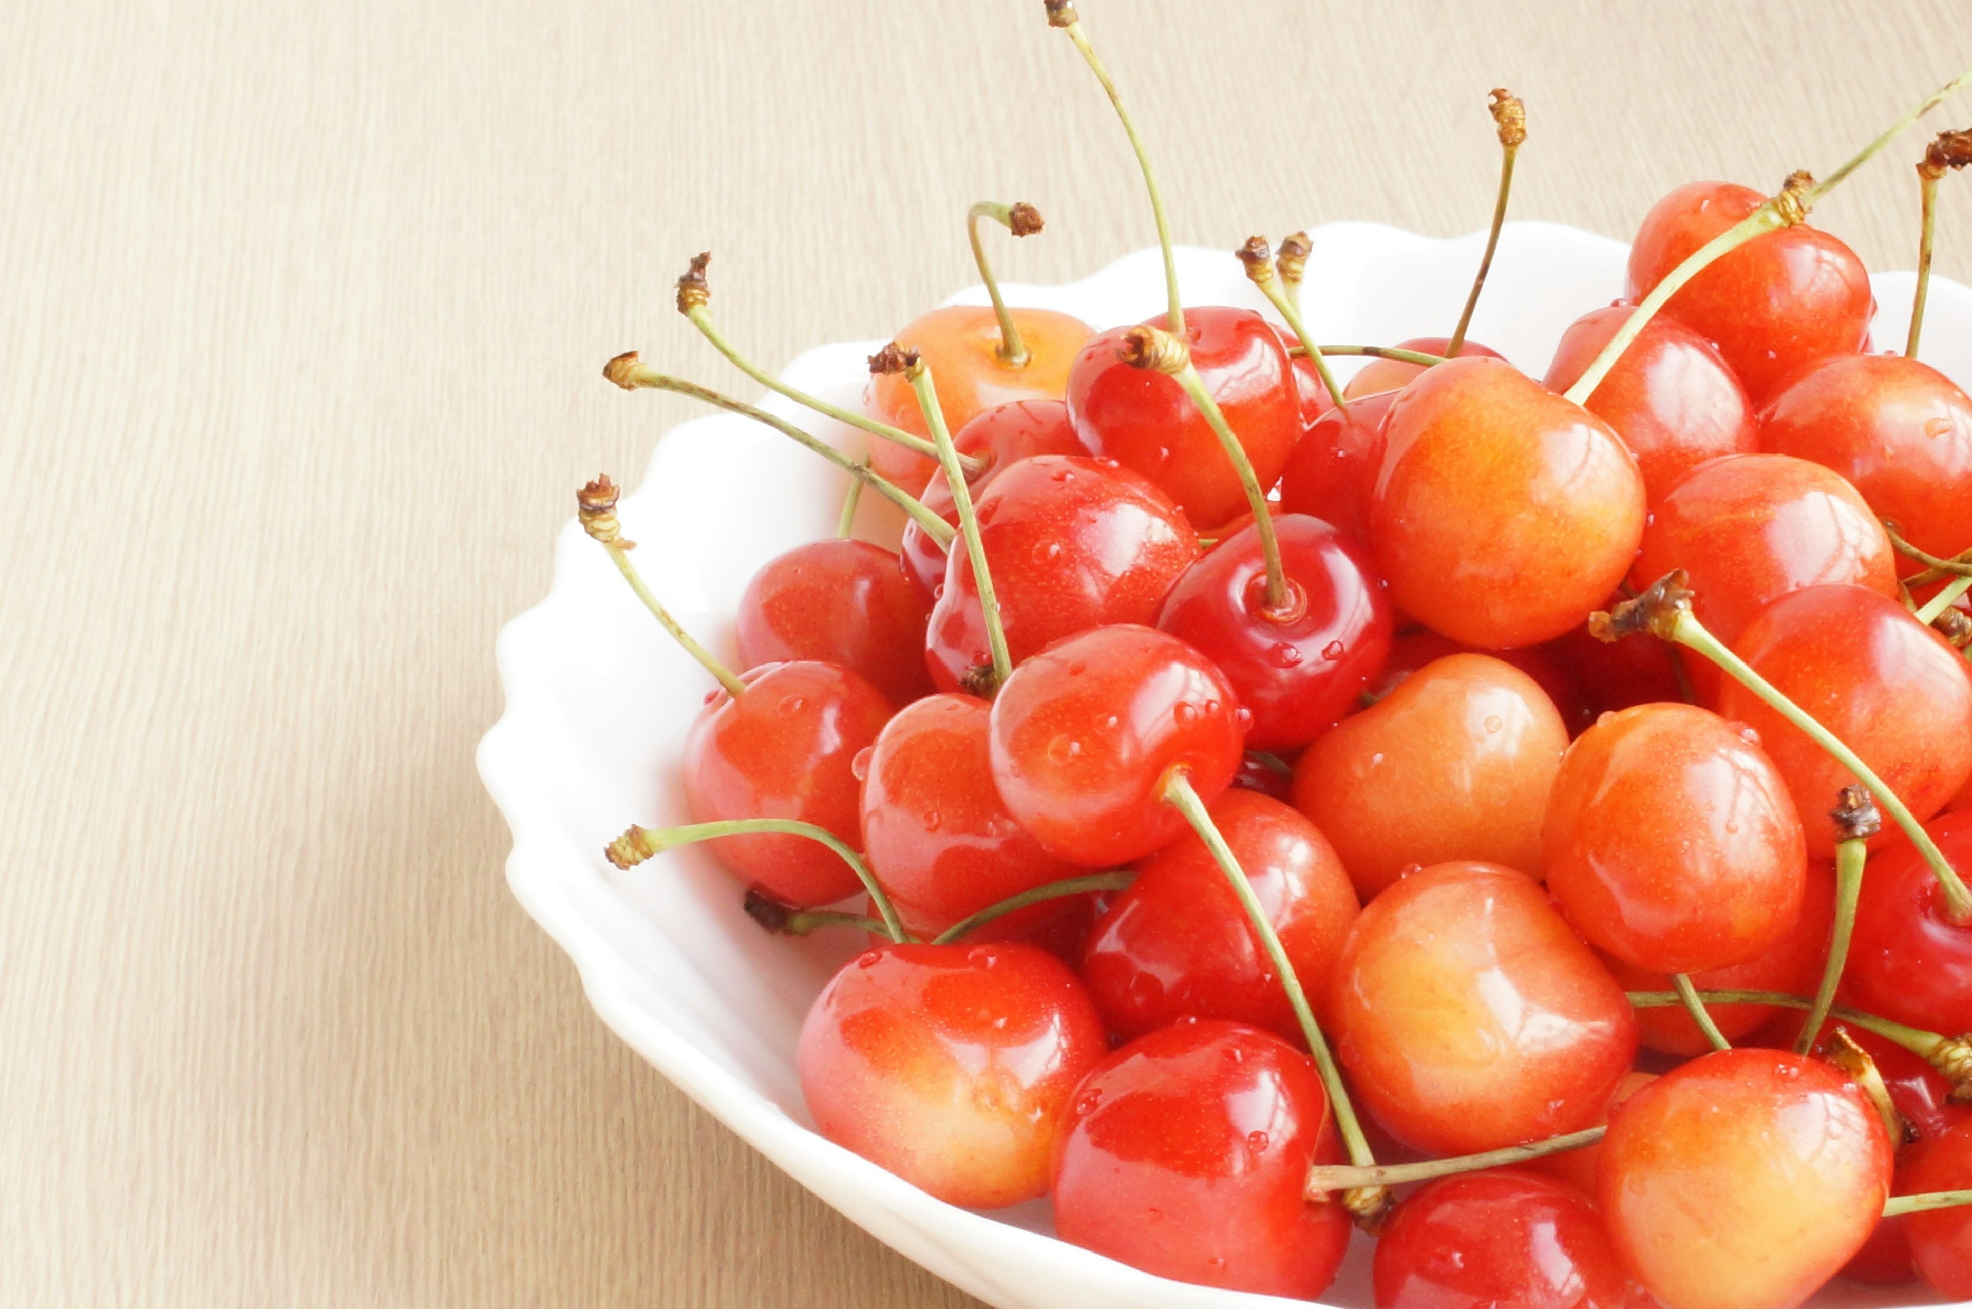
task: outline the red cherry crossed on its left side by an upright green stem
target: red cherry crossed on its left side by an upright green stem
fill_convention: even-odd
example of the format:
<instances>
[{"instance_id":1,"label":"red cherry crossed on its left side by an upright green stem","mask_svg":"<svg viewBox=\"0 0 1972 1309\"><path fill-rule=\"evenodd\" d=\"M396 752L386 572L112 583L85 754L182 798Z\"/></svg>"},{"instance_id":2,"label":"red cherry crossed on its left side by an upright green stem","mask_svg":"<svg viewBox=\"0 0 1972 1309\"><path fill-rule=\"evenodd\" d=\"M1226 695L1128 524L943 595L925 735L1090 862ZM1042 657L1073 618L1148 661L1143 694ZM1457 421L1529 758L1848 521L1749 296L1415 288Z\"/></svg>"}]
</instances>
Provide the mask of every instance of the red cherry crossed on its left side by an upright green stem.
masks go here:
<instances>
[{"instance_id":1,"label":"red cherry crossed on its left side by an upright green stem","mask_svg":"<svg viewBox=\"0 0 1972 1309\"><path fill-rule=\"evenodd\" d=\"M1091 627L1154 623L1171 586L1199 558L1199 536L1177 507L1108 459L1021 459L994 479L974 511L1016 664ZM945 587L931 609L925 660L939 690L958 690L974 668L992 666L962 536L952 538Z\"/></svg>"}]
</instances>

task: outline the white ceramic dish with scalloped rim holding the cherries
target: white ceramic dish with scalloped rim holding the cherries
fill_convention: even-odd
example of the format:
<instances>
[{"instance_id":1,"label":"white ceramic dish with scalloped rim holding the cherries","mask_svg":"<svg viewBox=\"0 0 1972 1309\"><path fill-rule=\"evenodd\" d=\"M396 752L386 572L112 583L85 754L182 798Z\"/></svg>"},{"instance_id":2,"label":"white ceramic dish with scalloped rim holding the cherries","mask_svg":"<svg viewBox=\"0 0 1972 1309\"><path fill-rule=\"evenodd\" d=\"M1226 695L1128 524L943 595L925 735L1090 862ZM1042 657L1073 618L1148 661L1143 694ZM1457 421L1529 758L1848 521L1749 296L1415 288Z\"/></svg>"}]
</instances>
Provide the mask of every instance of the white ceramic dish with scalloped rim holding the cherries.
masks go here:
<instances>
[{"instance_id":1,"label":"white ceramic dish with scalloped rim holding the cherries","mask_svg":"<svg viewBox=\"0 0 1972 1309\"><path fill-rule=\"evenodd\" d=\"M1445 331L1481 241L1430 241L1365 223L1317 229L1303 288L1309 331L1373 343ZM1621 294L1625 254L1623 244L1576 229L1509 225L1473 337L1538 377L1562 329ZM1177 268L1187 304L1262 308L1231 254L1179 250ZM1911 282L1911 274L1875 280L1879 343L1903 341ZM1085 282L1008 286L1006 294L1094 327L1163 308L1154 250ZM984 304L984 292L952 300ZM785 377L854 400L868 375L864 357L878 345L809 351ZM663 351L653 345L647 355L659 361ZM1933 286L1923 355L1962 386L1972 382L1972 292ZM862 448L860 432L779 398L765 406L842 448ZM665 603L714 649L730 651L747 578L771 556L828 536L842 491L844 477L793 442L712 414L665 434L619 517ZM574 487L568 493L572 505ZM887 513L878 497L864 497L864 534L895 532ZM740 887L704 850L672 852L627 873L601 856L631 822L686 820L678 751L710 678L651 621L574 520L556 542L548 597L507 625L497 654L507 712L479 745L479 775L513 826L513 893L574 958L603 1021L688 1096L856 1224L1000 1309L1290 1303L1165 1281L1053 1240L1045 1203L998 1214L952 1208L816 1136L795 1080L795 1035L854 942L767 936L740 911ZM1371 1303L1365 1242L1321 1303ZM1818 1303L1937 1301L1913 1301L1909 1289L1844 1287Z\"/></svg>"}]
</instances>

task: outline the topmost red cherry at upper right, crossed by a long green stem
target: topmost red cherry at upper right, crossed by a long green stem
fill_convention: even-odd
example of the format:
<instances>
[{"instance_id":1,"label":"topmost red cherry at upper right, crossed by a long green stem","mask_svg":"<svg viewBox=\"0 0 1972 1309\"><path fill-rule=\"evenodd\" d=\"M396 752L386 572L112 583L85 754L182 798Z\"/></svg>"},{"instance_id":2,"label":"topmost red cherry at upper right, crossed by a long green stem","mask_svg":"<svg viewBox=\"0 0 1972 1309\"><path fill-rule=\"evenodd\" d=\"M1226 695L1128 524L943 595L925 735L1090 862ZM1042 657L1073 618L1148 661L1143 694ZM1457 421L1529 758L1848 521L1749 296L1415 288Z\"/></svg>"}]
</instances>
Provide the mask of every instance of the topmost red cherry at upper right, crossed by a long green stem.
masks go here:
<instances>
[{"instance_id":1,"label":"topmost red cherry at upper right, crossed by a long green stem","mask_svg":"<svg viewBox=\"0 0 1972 1309\"><path fill-rule=\"evenodd\" d=\"M1763 203L1759 191L1727 181L1692 181L1664 195L1629 246L1627 298L1641 302L1686 256ZM1802 223L1726 254L1686 282L1664 313L1718 345L1759 404L1789 373L1860 351L1875 296L1856 252Z\"/></svg>"}]
</instances>

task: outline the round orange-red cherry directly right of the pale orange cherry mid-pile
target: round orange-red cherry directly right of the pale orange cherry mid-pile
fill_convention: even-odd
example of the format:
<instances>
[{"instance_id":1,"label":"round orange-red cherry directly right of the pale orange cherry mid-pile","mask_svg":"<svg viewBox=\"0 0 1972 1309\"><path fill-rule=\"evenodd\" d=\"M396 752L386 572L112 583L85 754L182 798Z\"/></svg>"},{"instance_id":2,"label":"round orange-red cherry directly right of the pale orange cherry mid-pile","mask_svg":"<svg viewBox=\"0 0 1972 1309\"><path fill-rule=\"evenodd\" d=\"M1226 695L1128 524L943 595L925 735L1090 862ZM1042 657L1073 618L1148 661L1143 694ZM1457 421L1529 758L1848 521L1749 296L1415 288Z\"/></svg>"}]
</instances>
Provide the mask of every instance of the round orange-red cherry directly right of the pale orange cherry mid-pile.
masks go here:
<instances>
[{"instance_id":1,"label":"round orange-red cherry directly right of the pale orange cherry mid-pile","mask_svg":"<svg viewBox=\"0 0 1972 1309\"><path fill-rule=\"evenodd\" d=\"M1591 946L1702 972L1751 960L1795 927L1800 816L1747 735L1698 706L1641 704L1603 714L1562 755L1542 867Z\"/></svg>"}]
</instances>

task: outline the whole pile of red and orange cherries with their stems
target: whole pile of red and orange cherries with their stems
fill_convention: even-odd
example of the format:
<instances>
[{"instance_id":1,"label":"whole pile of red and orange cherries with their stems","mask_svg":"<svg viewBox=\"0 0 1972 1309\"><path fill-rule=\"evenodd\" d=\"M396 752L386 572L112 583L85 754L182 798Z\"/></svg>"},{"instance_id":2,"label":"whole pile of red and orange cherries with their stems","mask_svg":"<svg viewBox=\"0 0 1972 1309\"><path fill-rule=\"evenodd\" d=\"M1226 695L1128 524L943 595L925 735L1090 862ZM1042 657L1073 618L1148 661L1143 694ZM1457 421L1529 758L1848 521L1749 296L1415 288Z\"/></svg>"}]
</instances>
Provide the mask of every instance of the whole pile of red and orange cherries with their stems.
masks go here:
<instances>
[{"instance_id":1,"label":"whole pile of red and orange cherries with their stems","mask_svg":"<svg viewBox=\"0 0 1972 1309\"><path fill-rule=\"evenodd\" d=\"M1925 262L1968 160L1919 170ZM611 361L852 473L738 674L584 489L722 684L694 824L611 861L708 840L769 929L874 932L801 1033L816 1128L1165 1277L1315 1297L1363 1226L1386 1309L1972 1295L1972 398L1915 323L1875 351L1824 189L1662 197L1542 379L1465 339L1491 242L1445 339L1309 341L1300 235L1240 250L1280 321L1171 278L1092 331L1000 304L976 225L1039 215L978 205L994 308L909 323L856 412L694 260L708 339L878 440Z\"/></svg>"}]
</instances>

